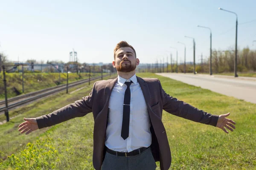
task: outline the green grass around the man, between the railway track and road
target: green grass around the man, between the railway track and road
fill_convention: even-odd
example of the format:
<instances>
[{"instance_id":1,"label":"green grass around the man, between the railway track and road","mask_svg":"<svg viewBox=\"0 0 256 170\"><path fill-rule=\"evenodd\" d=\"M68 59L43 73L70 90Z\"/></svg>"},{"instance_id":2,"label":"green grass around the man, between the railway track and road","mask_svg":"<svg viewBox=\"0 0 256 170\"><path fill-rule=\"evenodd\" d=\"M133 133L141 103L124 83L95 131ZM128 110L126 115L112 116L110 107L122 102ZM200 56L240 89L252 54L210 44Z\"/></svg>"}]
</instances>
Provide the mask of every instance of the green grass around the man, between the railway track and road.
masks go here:
<instances>
[{"instance_id":1,"label":"green grass around the man, between the railway track and road","mask_svg":"<svg viewBox=\"0 0 256 170\"><path fill-rule=\"evenodd\" d=\"M253 170L256 167L256 105L186 85L154 74L163 89L180 100L212 114L230 112L236 130L221 129L163 113L174 170ZM55 111L89 94L92 85L73 94L58 94L25 107L9 123L0 125L0 169L93 169L93 116L69 120L25 136L17 131L23 117ZM26 109L29 108L29 109ZM159 170L159 164L157 167Z\"/></svg>"}]
</instances>

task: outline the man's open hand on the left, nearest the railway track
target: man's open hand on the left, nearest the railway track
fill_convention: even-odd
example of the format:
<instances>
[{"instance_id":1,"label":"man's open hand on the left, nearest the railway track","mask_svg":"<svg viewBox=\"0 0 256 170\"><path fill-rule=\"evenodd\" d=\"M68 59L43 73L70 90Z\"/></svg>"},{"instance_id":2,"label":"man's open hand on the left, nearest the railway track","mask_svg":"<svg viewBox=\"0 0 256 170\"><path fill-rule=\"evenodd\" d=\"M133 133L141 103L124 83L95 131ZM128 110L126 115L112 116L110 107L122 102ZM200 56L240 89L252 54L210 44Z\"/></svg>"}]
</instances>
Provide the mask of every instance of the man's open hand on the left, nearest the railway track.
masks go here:
<instances>
[{"instance_id":1,"label":"man's open hand on the left, nearest the railway track","mask_svg":"<svg viewBox=\"0 0 256 170\"><path fill-rule=\"evenodd\" d=\"M30 119L27 119L27 118L23 118L26 122L23 122L21 123L18 127L19 128L19 131L21 131L20 133L25 133L26 135L31 133L32 131L34 130L37 130L39 129L38 128L38 124L36 122L36 119L35 118L30 118Z\"/></svg>"}]
</instances>

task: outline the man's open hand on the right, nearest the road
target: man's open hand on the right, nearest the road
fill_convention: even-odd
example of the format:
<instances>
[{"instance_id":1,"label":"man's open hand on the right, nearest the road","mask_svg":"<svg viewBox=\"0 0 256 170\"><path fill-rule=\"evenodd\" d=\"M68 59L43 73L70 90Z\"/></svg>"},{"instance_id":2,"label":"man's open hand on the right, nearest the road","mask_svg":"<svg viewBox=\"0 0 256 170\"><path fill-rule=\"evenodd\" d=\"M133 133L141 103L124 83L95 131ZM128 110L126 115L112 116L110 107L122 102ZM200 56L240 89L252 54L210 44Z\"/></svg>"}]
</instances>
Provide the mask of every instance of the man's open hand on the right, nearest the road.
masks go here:
<instances>
[{"instance_id":1,"label":"man's open hand on the right, nearest the road","mask_svg":"<svg viewBox=\"0 0 256 170\"><path fill-rule=\"evenodd\" d=\"M221 128L226 133L229 133L229 132L224 127L231 130L232 132L233 132L233 129L236 129L236 127L234 126L234 125L236 125L236 122L234 122L231 119L226 118L229 115L230 115L230 113L219 115L218 122L217 122L217 125L216 125L216 127ZM232 123L234 125L232 125Z\"/></svg>"}]
</instances>

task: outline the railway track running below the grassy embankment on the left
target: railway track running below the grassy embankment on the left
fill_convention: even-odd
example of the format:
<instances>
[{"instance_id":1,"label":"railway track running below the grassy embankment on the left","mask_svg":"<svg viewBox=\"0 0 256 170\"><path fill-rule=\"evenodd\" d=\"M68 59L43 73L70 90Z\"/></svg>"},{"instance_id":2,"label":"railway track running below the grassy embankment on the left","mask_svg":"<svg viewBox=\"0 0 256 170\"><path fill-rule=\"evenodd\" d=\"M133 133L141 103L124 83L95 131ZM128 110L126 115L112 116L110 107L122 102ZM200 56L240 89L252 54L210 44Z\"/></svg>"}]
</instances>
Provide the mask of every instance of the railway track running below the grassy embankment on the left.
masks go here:
<instances>
[{"instance_id":1,"label":"railway track running below the grassy embankment on the left","mask_svg":"<svg viewBox=\"0 0 256 170\"><path fill-rule=\"evenodd\" d=\"M103 75L103 77L107 77L107 76L109 76L109 74ZM99 78L101 78L101 76L92 77L92 78L90 78L90 80L95 80L95 79L99 79ZM76 85L81 85L86 82L89 82L89 79L83 79L83 80L79 80L76 82L72 82L72 83L68 84L68 88L74 87ZM58 85L58 86L51 87L51 88L45 88L40 91L35 91L35 92L28 93L28 94L10 98L10 99L8 99L8 109L15 108L20 105L24 105L28 102L32 102L36 99L40 99L45 96L49 96L51 94L54 94L54 93L57 93L60 91L64 91L66 89L67 89L67 85L64 84L64 85ZM0 113L5 110L6 110L5 100L2 100L2 101L0 101Z\"/></svg>"}]
</instances>

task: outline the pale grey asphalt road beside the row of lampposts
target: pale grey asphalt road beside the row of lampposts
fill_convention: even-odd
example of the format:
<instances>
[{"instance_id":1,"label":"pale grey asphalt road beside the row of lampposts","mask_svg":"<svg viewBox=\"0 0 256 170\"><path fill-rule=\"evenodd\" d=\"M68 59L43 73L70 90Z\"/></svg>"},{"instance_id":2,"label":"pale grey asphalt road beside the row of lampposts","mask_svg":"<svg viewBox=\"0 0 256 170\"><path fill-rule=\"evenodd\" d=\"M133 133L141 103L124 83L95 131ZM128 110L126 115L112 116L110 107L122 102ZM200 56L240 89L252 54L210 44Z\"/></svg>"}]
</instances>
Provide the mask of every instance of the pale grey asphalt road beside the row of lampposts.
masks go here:
<instances>
[{"instance_id":1,"label":"pale grey asphalt road beside the row of lampposts","mask_svg":"<svg viewBox=\"0 0 256 170\"><path fill-rule=\"evenodd\" d=\"M158 75L256 103L256 78L182 73L158 73Z\"/></svg>"}]
</instances>

